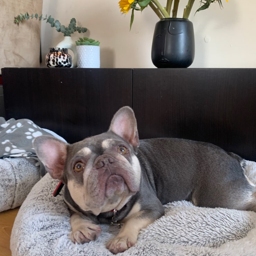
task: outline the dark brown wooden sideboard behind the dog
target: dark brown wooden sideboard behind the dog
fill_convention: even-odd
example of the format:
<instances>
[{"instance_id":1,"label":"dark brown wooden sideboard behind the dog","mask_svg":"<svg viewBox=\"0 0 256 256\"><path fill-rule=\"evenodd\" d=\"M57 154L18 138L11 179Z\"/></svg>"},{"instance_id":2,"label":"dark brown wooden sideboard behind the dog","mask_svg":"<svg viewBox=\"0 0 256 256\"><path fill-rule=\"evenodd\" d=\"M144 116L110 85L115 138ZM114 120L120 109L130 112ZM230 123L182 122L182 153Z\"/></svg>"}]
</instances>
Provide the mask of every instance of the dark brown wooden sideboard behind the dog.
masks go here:
<instances>
[{"instance_id":1,"label":"dark brown wooden sideboard behind the dog","mask_svg":"<svg viewBox=\"0 0 256 256\"><path fill-rule=\"evenodd\" d=\"M3 68L6 119L73 143L131 106L139 137L207 141L256 161L256 69Z\"/></svg>"}]
</instances>

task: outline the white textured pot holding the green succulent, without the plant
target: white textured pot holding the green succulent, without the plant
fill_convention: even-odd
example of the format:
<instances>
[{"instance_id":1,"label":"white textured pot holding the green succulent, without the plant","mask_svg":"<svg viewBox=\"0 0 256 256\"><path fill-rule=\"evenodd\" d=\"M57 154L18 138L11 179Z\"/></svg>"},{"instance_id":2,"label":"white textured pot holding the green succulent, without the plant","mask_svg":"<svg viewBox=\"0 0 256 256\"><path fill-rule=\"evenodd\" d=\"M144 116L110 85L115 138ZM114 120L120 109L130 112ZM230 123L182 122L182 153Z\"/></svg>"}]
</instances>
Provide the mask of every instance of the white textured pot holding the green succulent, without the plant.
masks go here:
<instances>
[{"instance_id":1,"label":"white textured pot holding the green succulent, without the plant","mask_svg":"<svg viewBox=\"0 0 256 256\"><path fill-rule=\"evenodd\" d=\"M100 46L77 45L77 67L99 68Z\"/></svg>"}]
</instances>

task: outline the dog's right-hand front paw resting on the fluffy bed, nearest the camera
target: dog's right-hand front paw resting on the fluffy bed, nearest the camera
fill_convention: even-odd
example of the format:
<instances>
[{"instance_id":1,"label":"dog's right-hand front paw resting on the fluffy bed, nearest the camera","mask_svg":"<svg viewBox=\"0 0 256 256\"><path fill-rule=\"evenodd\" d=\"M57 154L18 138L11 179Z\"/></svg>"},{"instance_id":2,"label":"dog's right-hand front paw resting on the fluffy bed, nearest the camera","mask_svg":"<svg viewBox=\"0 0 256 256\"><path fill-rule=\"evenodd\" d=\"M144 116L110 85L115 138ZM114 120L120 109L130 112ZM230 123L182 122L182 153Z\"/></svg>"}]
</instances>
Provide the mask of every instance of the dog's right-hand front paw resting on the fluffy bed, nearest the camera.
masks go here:
<instances>
[{"instance_id":1,"label":"dog's right-hand front paw resting on the fluffy bed, nearest the camera","mask_svg":"<svg viewBox=\"0 0 256 256\"><path fill-rule=\"evenodd\" d=\"M134 239L129 236L117 235L116 237L114 237L109 241L107 248L113 254L122 253L125 250L129 249L131 246L134 246L136 241L137 241L137 238Z\"/></svg>"}]
</instances>

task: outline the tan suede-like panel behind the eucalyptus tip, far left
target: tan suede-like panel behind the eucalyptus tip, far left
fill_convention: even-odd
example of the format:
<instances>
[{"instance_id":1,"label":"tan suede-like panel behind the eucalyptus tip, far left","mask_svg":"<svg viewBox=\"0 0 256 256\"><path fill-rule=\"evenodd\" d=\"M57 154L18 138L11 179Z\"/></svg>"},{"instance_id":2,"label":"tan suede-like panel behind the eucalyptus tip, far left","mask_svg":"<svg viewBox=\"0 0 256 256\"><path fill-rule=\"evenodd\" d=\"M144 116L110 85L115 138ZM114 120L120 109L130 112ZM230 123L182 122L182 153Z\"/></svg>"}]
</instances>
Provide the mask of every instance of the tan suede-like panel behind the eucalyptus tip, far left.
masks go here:
<instances>
[{"instance_id":1,"label":"tan suede-like panel behind the eucalyptus tip, far left","mask_svg":"<svg viewBox=\"0 0 256 256\"><path fill-rule=\"evenodd\" d=\"M14 17L42 11L43 0L0 0L0 74L2 67L39 67L40 24L14 24Z\"/></svg>"}]
</instances>

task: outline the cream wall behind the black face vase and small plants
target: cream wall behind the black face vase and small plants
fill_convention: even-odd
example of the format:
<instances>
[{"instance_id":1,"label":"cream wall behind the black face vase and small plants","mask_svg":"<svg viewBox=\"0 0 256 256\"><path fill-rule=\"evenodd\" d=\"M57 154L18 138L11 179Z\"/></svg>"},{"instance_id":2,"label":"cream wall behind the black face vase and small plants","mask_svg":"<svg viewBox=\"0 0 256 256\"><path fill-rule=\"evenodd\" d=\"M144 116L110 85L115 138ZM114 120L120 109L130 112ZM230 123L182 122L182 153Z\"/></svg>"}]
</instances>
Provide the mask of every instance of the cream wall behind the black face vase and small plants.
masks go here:
<instances>
[{"instance_id":1,"label":"cream wall behind the black face vase and small plants","mask_svg":"<svg viewBox=\"0 0 256 256\"><path fill-rule=\"evenodd\" d=\"M181 17L188 0L180 0ZM119 0L44 0L43 15L52 15L63 25L76 18L79 26L87 27L84 36L100 40L101 67L151 68L151 44L159 20L150 7L135 12L129 31L130 15L120 13ZM165 0L159 0L165 4ZM222 0L197 12L194 2L190 20L194 25L195 59L190 67L256 67L256 1ZM36 11L35 11L36 12ZM42 57L63 39L63 34L42 21ZM72 34L74 40L81 34ZM42 64L44 65L44 63Z\"/></svg>"}]
</instances>

